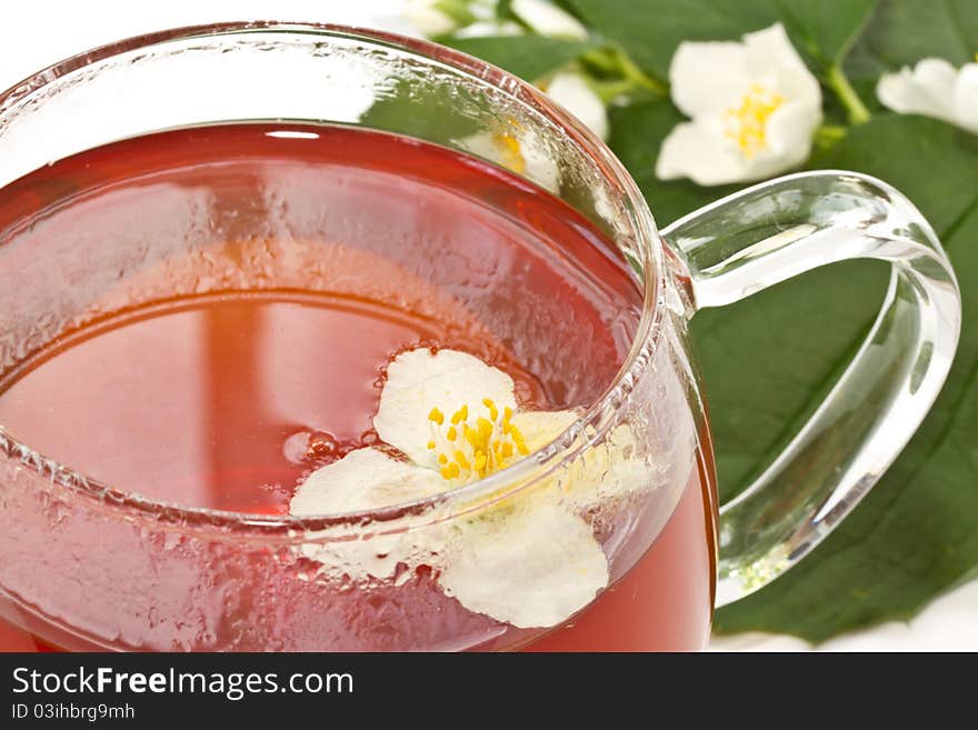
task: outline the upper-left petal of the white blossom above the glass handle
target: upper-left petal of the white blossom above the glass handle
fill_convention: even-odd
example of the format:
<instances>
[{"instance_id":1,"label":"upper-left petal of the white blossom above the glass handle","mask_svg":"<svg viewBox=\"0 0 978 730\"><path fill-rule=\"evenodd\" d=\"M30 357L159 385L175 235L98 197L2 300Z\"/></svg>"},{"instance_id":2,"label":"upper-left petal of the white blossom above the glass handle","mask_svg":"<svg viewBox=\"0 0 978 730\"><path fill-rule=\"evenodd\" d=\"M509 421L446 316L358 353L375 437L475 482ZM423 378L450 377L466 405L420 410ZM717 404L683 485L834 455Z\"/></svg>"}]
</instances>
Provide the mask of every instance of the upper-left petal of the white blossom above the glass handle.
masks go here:
<instances>
[{"instance_id":1,"label":"upper-left petal of the white blossom above the glass handle","mask_svg":"<svg viewBox=\"0 0 978 730\"><path fill-rule=\"evenodd\" d=\"M683 41L669 64L672 101L687 117L720 113L749 86L742 43Z\"/></svg>"}]
</instances>

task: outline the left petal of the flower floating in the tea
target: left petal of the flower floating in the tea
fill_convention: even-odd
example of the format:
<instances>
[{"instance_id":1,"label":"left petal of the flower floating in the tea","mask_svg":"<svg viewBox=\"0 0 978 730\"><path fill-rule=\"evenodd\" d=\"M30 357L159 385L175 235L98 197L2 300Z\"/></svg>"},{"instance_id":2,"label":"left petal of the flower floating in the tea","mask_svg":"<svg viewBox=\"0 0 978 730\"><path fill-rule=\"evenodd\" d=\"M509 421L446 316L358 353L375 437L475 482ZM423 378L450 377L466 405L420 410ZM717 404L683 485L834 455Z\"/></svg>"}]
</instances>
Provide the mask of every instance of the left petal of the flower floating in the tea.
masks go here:
<instances>
[{"instance_id":1,"label":"left petal of the flower floating in the tea","mask_svg":"<svg viewBox=\"0 0 978 730\"><path fill-rule=\"evenodd\" d=\"M313 471L292 497L289 513L312 517L391 507L437 494L445 484L430 469L391 459L377 449L358 449ZM321 563L322 571L353 580L385 579L395 574L399 563L410 564L423 552L416 538L398 533L307 542L299 546L299 553Z\"/></svg>"}]
</instances>

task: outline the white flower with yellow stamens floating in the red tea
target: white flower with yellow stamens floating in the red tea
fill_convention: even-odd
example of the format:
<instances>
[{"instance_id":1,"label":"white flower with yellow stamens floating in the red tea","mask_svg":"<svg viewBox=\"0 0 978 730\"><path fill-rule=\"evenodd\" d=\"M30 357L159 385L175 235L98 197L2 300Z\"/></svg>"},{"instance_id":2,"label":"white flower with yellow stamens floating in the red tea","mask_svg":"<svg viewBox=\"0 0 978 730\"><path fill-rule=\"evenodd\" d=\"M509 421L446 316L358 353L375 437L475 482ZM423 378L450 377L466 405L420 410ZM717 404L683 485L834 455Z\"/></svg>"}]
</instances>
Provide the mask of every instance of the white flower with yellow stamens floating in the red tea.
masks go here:
<instances>
[{"instance_id":1,"label":"white flower with yellow stamens floating in the red tea","mask_svg":"<svg viewBox=\"0 0 978 730\"><path fill-rule=\"evenodd\" d=\"M520 411L512 379L455 350L418 349L389 366L373 418L407 460L359 449L299 487L297 516L369 510L445 492L505 469L546 446L571 411ZM608 560L580 511L601 496L648 487L628 427L541 488L416 532L309 543L302 552L357 578L390 578L398 563L429 561L437 581L471 611L520 628L551 627L608 584Z\"/></svg>"}]
</instances>

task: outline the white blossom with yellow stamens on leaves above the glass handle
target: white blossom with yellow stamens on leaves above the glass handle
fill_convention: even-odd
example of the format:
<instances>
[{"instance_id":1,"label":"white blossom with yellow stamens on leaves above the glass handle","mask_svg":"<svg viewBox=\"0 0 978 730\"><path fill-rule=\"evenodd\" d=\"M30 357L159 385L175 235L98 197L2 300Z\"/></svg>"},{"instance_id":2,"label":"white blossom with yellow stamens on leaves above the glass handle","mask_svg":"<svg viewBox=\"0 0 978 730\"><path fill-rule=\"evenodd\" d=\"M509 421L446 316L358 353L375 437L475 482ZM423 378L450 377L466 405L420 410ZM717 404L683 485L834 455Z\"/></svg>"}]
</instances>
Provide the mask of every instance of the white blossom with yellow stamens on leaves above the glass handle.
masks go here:
<instances>
[{"instance_id":1,"label":"white blossom with yellow stamens on leaves above the glass handle","mask_svg":"<svg viewBox=\"0 0 978 730\"><path fill-rule=\"evenodd\" d=\"M669 68L688 122L662 142L656 174L702 186L759 180L806 160L821 90L780 23L744 42L683 42Z\"/></svg>"}]
</instances>

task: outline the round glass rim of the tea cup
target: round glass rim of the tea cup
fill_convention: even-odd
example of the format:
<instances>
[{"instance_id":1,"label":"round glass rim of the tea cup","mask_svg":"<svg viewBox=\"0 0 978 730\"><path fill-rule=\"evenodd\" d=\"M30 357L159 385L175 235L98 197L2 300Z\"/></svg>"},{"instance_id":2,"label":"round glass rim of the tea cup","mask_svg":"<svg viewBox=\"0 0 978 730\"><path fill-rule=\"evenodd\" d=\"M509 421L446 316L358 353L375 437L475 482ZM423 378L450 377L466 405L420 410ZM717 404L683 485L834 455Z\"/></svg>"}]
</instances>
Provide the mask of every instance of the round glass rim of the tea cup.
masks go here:
<instances>
[{"instance_id":1,"label":"round glass rim of the tea cup","mask_svg":"<svg viewBox=\"0 0 978 730\"><path fill-rule=\"evenodd\" d=\"M18 441L0 424L0 453L19 459L21 464L49 478L54 484L74 496L87 498L94 509L122 513L126 518L151 522L157 527L177 529L181 532L202 529L207 532L247 536L255 539L280 539L325 532L335 528L369 527L371 534L400 532L432 522L456 519L483 509L492 502L511 497L533 483L548 478L561 464L577 458L599 440L613 424L616 412L623 407L642 371L649 367L662 330L667 309L665 297L666 256L655 219L645 197L623 164L603 141L598 139L580 121L550 101L532 84L486 61L455 49L427 40L410 38L382 30L330 23L242 21L187 26L140 36L133 36L84 51L53 63L27 79L0 92L0 118L11 108L42 90L48 84L71 72L106 61L117 56L173 41L194 38L214 38L260 32L297 32L332 38L352 38L365 42L392 47L435 61L455 71L468 73L489 83L513 101L531 108L566 134L581 153L593 162L605 176L619 188L631 213L637 251L640 253L642 312L638 327L621 368L603 393L588 406L550 443L533 451L510 467L480 480L440 492L438 494L392 504L380 509L358 510L317 517L251 514L230 510L190 507L163 500L150 499L134 492L111 487L86 477L44 454L33 451ZM437 508L437 509L432 509ZM377 523L390 523L390 529L377 529ZM349 532L345 532L349 539Z\"/></svg>"}]
</instances>

